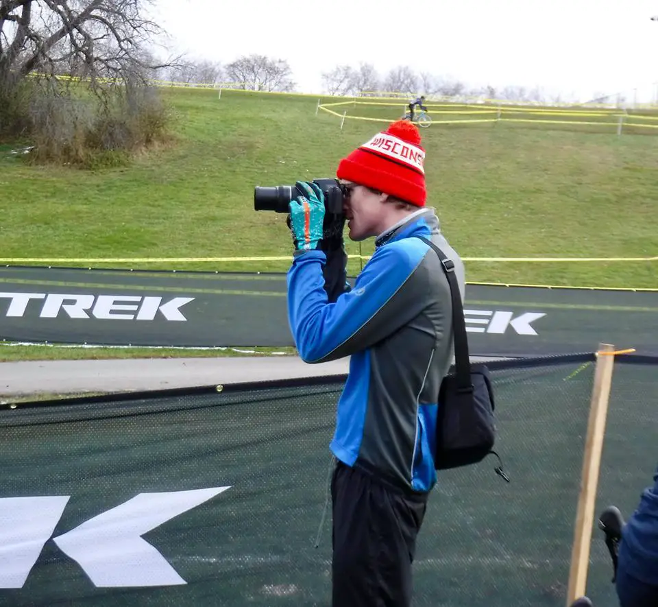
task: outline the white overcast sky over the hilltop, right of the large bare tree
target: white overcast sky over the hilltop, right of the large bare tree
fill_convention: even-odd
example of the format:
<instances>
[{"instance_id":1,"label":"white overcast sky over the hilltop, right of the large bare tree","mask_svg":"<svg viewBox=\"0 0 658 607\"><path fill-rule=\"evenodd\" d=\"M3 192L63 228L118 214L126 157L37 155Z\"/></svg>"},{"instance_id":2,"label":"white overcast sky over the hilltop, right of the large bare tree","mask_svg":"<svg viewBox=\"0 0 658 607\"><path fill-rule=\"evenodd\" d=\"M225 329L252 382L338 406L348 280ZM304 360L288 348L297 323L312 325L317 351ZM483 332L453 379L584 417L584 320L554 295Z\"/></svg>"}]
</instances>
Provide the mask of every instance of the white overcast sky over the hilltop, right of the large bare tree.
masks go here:
<instances>
[{"instance_id":1,"label":"white overcast sky over the hilltop, right of the large bare tree","mask_svg":"<svg viewBox=\"0 0 658 607\"><path fill-rule=\"evenodd\" d=\"M285 59L307 93L321 92L321 72L360 62L581 101L655 95L658 82L658 0L155 0L154 11L175 51Z\"/></svg>"}]
</instances>

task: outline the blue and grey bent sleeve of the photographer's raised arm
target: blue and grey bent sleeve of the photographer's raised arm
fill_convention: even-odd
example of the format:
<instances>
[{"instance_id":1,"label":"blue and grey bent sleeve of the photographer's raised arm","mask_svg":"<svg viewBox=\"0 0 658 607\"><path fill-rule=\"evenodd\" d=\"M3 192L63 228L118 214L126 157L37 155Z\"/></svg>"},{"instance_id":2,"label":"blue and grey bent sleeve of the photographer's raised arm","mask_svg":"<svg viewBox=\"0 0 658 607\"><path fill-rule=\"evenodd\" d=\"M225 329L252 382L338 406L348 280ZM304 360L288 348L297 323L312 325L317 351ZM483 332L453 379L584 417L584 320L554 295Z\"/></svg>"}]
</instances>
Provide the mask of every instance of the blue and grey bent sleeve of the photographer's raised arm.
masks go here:
<instances>
[{"instance_id":1,"label":"blue and grey bent sleeve of the photographer's raised arm","mask_svg":"<svg viewBox=\"0 0 658 607\"><path fill-rule=\"evenodd\" d=\"M300 357L319 363L349 356L381 341L427 305L404 288L428 248L419 239L377 250L354 289L333 303L324 289L324 253L297 255L288 272L288 320Z\"/></svg>"}]
</instances>

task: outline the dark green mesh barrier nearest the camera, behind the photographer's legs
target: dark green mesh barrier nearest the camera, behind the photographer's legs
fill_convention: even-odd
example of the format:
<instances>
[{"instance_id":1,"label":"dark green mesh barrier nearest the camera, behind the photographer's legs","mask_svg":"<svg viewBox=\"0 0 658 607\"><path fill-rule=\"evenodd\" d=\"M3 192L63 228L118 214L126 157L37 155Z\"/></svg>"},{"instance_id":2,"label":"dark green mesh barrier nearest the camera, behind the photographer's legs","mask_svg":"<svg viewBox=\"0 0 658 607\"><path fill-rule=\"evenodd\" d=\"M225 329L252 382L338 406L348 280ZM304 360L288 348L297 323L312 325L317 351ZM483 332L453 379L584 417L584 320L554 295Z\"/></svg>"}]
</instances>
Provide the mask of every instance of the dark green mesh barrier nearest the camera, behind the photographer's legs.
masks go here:
<instances>
[{"instance_id":1,"label":"dark green mesh barrier nearest the camera, behind the photographer's legs","mask_svg":"<svg viewBox=\"0 0 658 607\"><path fill-rule=\"evenodd\" d=\"M496 361L496 461L441 473L415 606L563 607L594 355ZM615 364L597 512L655 468L658 358ZM326 501L345 377L0 407L0 604L328 606ZM12 408L13 407L13 408ZM593 532L588 592L616 605Z\"/></svg>"}]
</instances>

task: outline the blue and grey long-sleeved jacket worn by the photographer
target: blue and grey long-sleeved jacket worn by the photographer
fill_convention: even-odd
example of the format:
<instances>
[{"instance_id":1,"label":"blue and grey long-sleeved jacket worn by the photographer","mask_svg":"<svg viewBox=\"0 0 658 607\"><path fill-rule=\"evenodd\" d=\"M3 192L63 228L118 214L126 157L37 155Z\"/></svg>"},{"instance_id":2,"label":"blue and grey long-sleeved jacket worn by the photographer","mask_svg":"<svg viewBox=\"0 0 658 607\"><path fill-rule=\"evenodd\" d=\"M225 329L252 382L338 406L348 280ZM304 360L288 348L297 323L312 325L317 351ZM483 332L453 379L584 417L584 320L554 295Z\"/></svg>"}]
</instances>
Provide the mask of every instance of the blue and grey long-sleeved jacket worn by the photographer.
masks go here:
<instances>
[{"instance_id":1,"label":"blue and grey long-sleeved jacket worn by the photographer","mask_svg":"<svg viewBox=\"0 0 658 607\"><path fill-rule=\"evenodd\" d=\"M434 468L437 396L452 362L450 286L431 239L461 259L432 209L413 213L376 240L351 291L330 302L319 250L300 252L288 272L288 318L308 363L351 355L331 450L396 486L427 492Z\"/></svg>"}]
</instances>

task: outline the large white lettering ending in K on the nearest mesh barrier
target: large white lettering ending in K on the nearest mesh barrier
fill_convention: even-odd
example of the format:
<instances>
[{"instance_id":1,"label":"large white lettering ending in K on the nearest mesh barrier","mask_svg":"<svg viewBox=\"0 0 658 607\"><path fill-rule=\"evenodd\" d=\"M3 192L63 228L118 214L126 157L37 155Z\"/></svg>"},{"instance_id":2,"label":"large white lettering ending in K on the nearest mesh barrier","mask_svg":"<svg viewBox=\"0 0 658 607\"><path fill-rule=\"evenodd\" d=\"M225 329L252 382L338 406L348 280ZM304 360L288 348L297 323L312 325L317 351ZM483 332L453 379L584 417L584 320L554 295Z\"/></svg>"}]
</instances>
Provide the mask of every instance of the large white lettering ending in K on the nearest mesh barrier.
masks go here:
<instances>
[{"instance_id":1,"label":"large white lettering ending in K on the nearest mesh barrier","mask_svg":"<svg viewBox=\"0 0 658 607\"><path fill-rule=\"evenodd\" d=\"M140 493L53 538L95 586L186 584L141 536L230 487ZM22 588L69 496L0 499L0 588Z\"/></svg>"}]
</instances>

